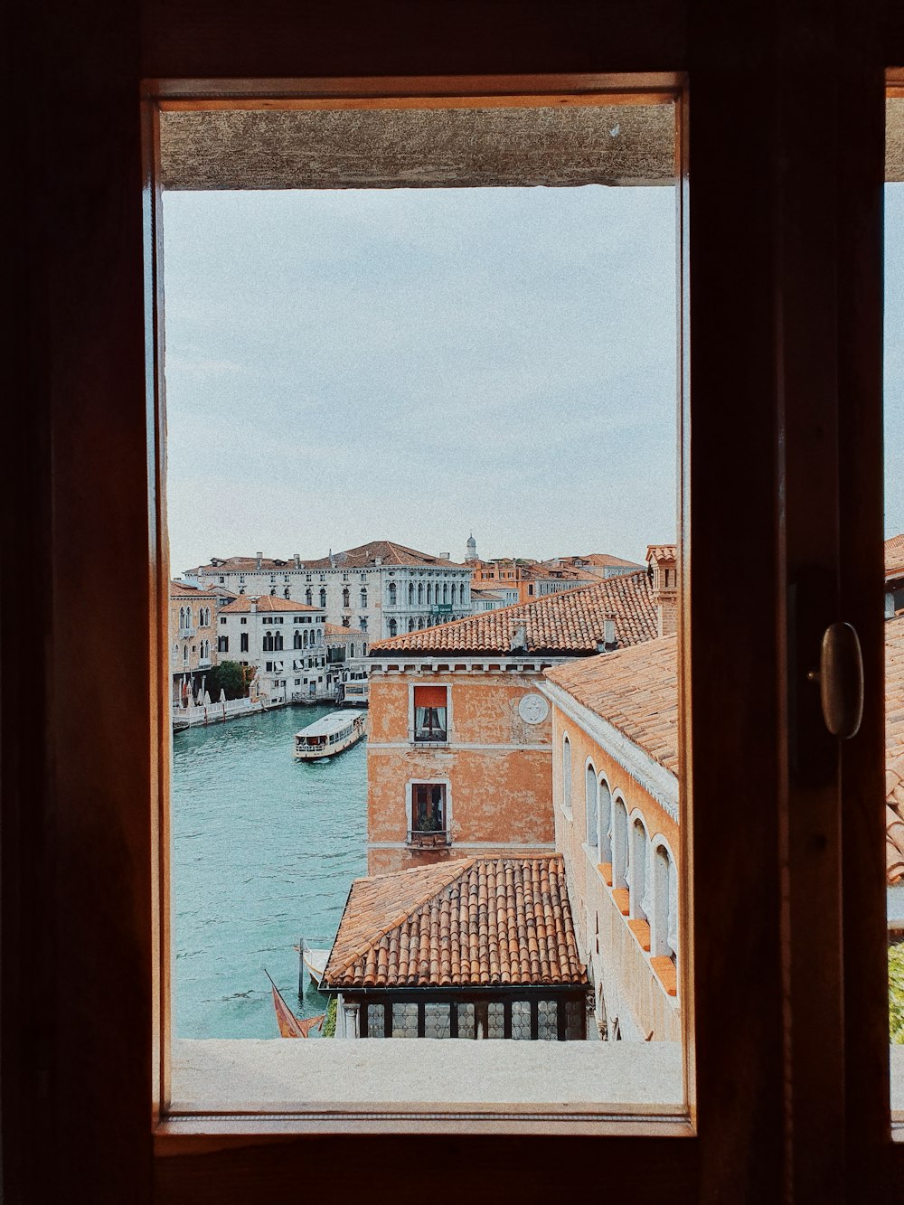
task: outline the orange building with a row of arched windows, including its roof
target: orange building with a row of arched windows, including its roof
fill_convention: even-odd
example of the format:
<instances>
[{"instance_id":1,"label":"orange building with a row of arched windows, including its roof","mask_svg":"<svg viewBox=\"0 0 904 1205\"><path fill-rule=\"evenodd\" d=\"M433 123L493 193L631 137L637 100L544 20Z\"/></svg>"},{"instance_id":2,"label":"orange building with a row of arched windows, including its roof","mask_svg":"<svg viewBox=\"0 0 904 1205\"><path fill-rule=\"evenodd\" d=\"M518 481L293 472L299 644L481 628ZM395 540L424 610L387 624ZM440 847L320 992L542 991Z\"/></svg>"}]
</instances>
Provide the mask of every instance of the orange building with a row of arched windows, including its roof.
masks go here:
<instances>
[{"instance_id":1,"label":"orange building with a row of arched windows, including its roof","mask_svg":"<svg viewBox=\"0 0 904 1205\"><path fill-rule=\"evenodd\" d=\"M562 666L556 848L600 1035L680 1041L676 636Z\"/></svg>"}]
</instances>

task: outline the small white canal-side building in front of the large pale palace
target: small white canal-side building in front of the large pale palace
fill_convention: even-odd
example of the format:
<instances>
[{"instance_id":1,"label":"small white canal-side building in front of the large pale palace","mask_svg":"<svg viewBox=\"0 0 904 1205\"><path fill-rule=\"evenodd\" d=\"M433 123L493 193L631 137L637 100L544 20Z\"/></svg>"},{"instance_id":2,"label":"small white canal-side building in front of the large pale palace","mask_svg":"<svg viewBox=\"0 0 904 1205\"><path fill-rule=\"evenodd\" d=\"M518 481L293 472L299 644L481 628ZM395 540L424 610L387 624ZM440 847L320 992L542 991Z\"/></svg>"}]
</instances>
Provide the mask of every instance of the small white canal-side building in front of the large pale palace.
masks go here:
<instances>
[{"instance_id":1,"label":"small white canal-side building in front of the large pale palace","mask_svg":"<svg viewBox=\"0 0 904 1205\"><path fill-rule=\"evenodd\" d=\"M322 607L243 594L217 617L218 657L253 666L254 692L270 703L325 696L325 622Z\"/></svg>"}]
</instances>

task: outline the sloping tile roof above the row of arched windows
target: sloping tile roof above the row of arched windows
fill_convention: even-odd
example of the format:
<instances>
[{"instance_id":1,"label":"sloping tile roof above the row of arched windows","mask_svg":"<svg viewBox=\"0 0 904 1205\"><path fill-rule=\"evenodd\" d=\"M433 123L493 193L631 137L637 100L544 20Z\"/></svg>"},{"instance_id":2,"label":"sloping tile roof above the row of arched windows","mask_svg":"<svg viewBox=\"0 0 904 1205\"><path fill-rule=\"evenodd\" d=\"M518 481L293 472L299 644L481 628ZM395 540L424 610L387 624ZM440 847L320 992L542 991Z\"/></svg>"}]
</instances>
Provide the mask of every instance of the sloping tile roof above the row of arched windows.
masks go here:
<instances>
[{"instance_id":1,"label":"sloping tile roof above the row of arched windows","mask_svg":"<svg viewBox=\"0 0 904 1205\"><path fill-rule=\"evenodd\" d=\"M677 775L677 637L547 670L550 682Z\"/></svg>"}]
</instances>

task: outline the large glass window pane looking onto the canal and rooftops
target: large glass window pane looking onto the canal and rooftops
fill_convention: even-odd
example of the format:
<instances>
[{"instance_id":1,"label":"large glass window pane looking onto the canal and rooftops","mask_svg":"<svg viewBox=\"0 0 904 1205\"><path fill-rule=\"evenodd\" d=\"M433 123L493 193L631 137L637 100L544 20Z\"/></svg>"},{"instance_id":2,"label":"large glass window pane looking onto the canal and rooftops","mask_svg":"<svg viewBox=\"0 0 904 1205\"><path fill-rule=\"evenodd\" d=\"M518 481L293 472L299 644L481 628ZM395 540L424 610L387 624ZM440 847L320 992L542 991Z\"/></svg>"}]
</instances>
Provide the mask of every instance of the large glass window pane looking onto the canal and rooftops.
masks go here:
<instances>
[{"instance_id":1,"label":"large glass window pane looking onto the canal and rooftops","mask_svg":"<svg viewBox=\"0 0 904 1205\"><path fill-rule=\"evenodd\" d=\"M681 1105L675 118L162 114L178 1099L278 993Z\"/></svg>"}]
</instances>

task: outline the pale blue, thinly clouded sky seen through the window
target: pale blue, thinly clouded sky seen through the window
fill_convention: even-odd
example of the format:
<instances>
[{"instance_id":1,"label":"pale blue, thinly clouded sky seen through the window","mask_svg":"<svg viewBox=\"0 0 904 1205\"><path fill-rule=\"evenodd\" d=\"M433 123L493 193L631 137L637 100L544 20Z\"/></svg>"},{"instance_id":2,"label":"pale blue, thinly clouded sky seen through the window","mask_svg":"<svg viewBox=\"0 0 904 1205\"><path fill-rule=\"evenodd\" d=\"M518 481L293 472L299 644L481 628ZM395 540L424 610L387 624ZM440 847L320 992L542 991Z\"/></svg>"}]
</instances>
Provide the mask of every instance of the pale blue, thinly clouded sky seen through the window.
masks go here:
<instances>
[{"instance_id":1,"label":"pale blue, thinly clouded sky seen through the window","mask_svg":"<svg viewBox=\"0 0 904 1205\"><path fill-rule=\"evenodd\" d=\"M904 530L904 186L887 189ZM164 194L174 575L391 539L463 560L675 539L670 188Z\"/></svg>"}]
</instances>

